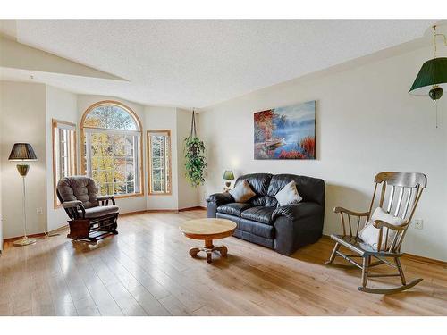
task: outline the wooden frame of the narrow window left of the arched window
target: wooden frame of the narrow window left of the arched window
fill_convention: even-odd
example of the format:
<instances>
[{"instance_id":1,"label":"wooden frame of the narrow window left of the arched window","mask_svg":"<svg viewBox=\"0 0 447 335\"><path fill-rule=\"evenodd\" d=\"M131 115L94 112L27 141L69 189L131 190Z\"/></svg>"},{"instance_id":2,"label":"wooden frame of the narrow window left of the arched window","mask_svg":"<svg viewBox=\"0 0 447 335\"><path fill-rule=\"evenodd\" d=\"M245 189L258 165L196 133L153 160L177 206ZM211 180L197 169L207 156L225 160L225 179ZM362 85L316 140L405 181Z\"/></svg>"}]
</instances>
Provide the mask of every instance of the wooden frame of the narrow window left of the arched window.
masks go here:
<instances>
[{"instance_id":1,"label":"wooden frame of the narrow window left of the arched window","mask_svg":"<svg viewBox=\"0 0 447 335\"><path fill-rule=\"evenodd\" d=\"M60 127L60 125L64 125L66 127ZM57 193L56 193L56 188L57 188L57 177L58 177L58 172L56 171L57 169L57 163L56 163L56 131L58 130L62 130L62 129L69 129L72 128L72 132L73 132L73 142L72 145L70 147L72 147L73 149L73 153L72 153L72 163L69 163L69 169L72 170L69 172L69 175L76 175L78 173L78 138L77 138L77 125L76 123L72 123L72 122L68 122L68 121L62 121L62 120L56 120L56 119L51 119L51 141L53 144L53 205L54 208L60 208L61 207L61 203L59 202L59 199L57 198ZM60 151L60 150L59 150ZM70 155L69 155L70 156ZM60 162L60 158L59 158L59 162ZM60 164L60 163L59 163Z\"/></svg>"}]
</instances>

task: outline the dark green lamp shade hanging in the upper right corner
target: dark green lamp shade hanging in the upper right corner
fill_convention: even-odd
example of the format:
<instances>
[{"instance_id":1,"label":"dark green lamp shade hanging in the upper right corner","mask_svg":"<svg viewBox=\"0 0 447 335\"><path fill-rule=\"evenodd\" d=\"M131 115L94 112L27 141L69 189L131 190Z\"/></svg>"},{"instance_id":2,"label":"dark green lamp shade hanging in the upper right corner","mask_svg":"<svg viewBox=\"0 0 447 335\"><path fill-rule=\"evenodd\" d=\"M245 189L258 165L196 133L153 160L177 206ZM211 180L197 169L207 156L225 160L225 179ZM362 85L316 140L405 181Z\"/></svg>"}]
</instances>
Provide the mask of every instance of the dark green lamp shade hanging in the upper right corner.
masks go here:
<instances>
[{"instance_id":1,"label":"dark green lamp shade hanging in the upper right corner","mask_svg":"<svg viewBox=\"0 0 447 335\"><path fill-rule=\"evenodd\" d=\"M409 94L428 96L434 85L447 88L445 83L447 83L447 57L434 58L422 65L413 86L409 88Z\"/></svg>"}]
</instances>

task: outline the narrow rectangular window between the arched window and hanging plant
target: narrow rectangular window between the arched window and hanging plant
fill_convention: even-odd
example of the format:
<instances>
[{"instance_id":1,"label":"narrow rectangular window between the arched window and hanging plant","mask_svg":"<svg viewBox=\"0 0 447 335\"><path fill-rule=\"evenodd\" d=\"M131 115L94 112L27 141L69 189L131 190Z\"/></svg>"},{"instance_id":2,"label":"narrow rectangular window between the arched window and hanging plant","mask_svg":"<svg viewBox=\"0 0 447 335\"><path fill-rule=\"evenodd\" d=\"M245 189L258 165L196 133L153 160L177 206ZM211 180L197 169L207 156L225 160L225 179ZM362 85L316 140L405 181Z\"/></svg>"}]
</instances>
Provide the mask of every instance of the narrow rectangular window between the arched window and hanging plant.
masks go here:
<instances>
[{"instance_id":1,"label":"narrow rectangular window between the arched window and hanging plant","mask_svg":"<svg viewBox=\"0 0 447 335\"><path fill-rule=\"evenodd\" d=\"M171 131L148 130L149 194L171 194Z\"/></svg>"}]
</instances>

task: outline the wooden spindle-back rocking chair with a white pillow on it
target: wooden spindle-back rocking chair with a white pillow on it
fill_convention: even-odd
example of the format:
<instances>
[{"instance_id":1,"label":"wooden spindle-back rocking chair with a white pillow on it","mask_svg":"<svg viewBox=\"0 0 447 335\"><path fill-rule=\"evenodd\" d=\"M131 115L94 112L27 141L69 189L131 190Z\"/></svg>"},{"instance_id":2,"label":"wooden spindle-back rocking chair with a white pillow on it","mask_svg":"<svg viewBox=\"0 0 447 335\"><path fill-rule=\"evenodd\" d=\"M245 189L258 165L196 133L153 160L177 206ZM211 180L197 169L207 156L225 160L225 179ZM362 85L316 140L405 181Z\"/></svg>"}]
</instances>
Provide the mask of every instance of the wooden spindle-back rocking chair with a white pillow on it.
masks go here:
<instances>
[{"instance_id":1,"label":"wooden spindle-back rocking chair with a white pillow on it","mask_svg":"<svg viewBox=\"0 0 447 335\"><path fill-rule=\"evenodd\" d=\"M401 266L401 245L415 213L422 191L426 188L426 175L414 172L380 172L375 176L375 188L369 211L353 212L342 207L335 207L333 212L342 219L342 235L331 235L335 241L333 252L326 265L341 267L358 267L362 270L361 286L358 290L389 294L401 292L417 285L421 278L407 283ZM376 192L378 207L373 212ZM384 205L385 204L385 205ZM346 255L340 248L350 250L354 255ZM335 257L341 256L350 264L335 264ZM354 258L361 258L359 264ZM374 260L374 262L372 262ZM369 273L369 269L386 264L396 269L394 273ZM376 289L367 287L368 278L400 277L401 286Z\"/></svg>"}]
</instances>

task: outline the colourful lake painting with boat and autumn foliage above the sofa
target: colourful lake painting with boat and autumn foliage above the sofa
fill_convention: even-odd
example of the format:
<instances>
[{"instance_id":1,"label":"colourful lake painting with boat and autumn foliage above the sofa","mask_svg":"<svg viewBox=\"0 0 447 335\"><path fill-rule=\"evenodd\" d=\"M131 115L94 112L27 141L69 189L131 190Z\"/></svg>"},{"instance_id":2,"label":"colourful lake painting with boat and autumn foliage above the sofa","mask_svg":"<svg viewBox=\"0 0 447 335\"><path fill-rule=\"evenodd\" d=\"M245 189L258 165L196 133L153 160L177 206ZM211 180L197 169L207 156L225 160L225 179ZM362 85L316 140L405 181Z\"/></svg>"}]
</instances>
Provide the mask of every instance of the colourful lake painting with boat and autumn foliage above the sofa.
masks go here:
<instances>
[{"instance_id":1,"label":"colourful lake painting with boat and autumn foliage above the sofa","mask_svg":"<svg viewBox=\"0 0 447 335\"><path fill-rule=\"evenodd\" d=\"M315 159L316 101L255 113L255 159Z\"/></svg>"}]
</instances>

